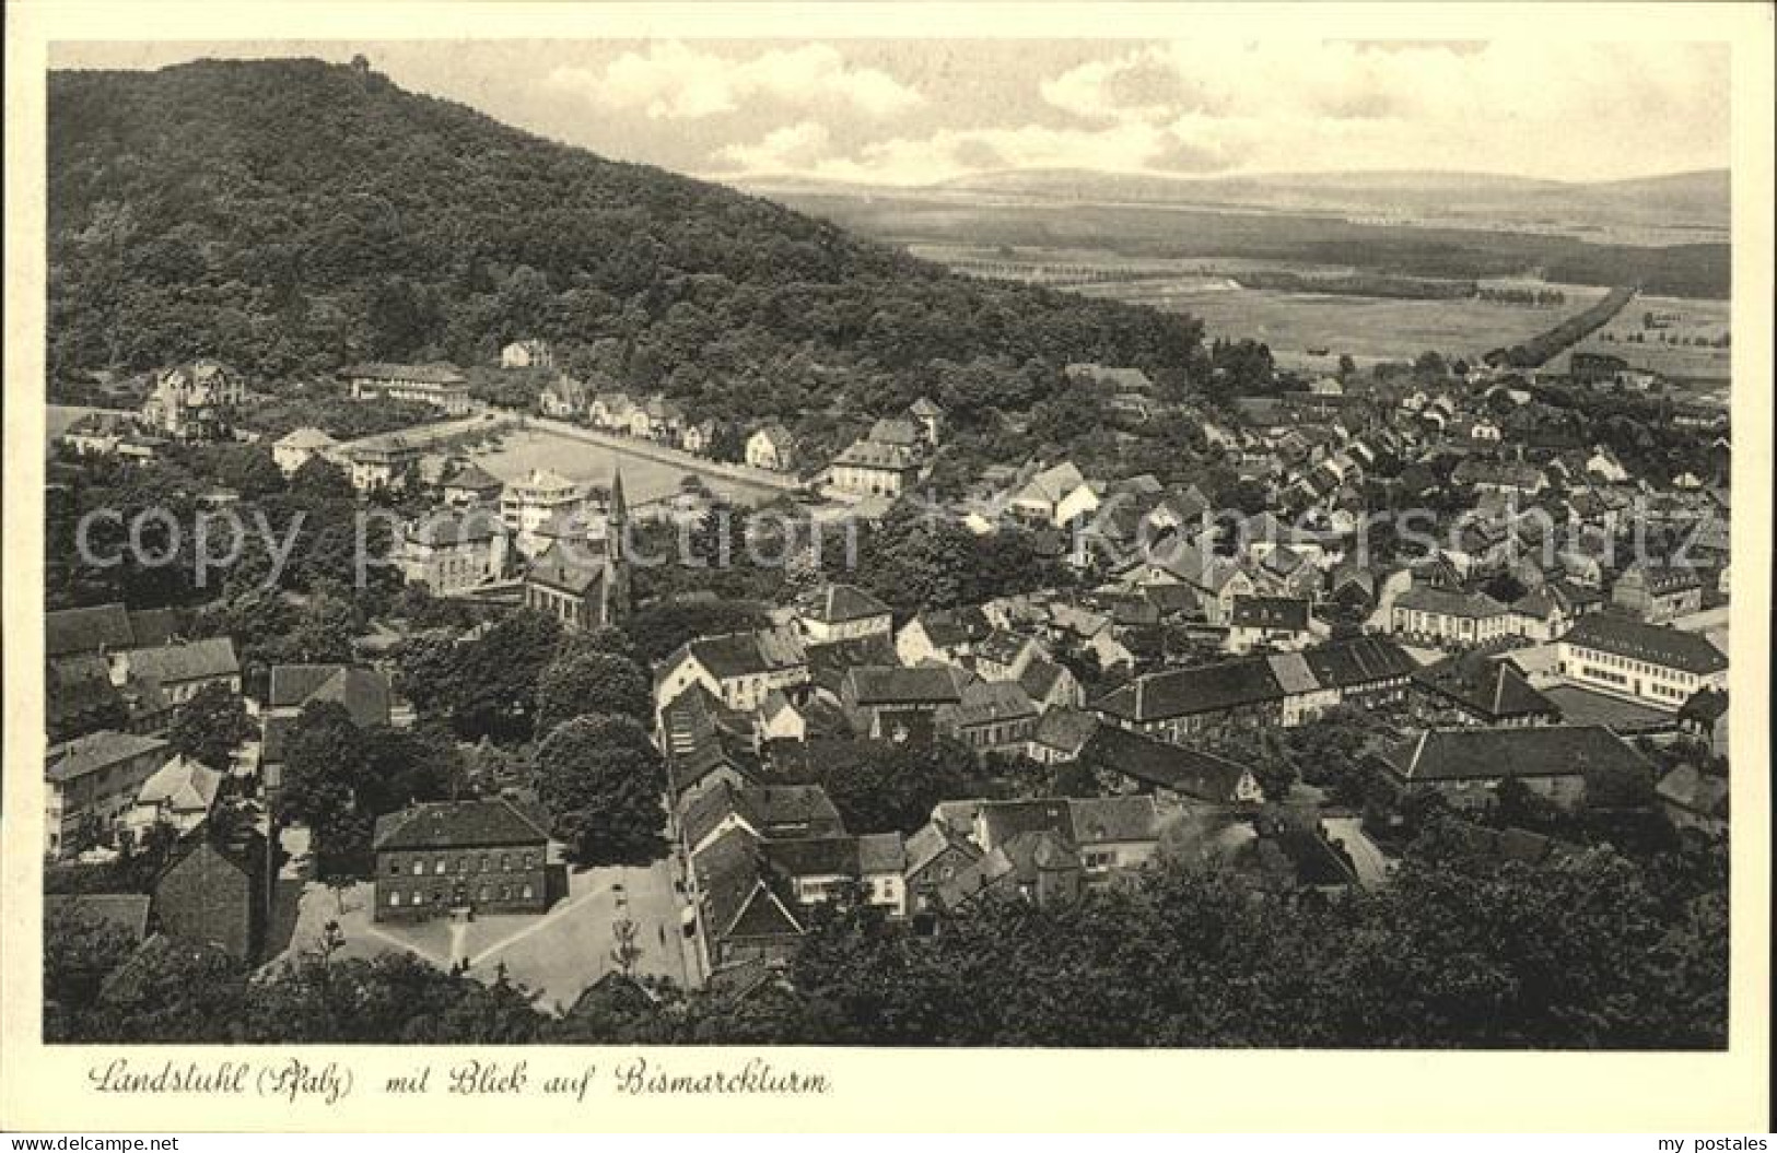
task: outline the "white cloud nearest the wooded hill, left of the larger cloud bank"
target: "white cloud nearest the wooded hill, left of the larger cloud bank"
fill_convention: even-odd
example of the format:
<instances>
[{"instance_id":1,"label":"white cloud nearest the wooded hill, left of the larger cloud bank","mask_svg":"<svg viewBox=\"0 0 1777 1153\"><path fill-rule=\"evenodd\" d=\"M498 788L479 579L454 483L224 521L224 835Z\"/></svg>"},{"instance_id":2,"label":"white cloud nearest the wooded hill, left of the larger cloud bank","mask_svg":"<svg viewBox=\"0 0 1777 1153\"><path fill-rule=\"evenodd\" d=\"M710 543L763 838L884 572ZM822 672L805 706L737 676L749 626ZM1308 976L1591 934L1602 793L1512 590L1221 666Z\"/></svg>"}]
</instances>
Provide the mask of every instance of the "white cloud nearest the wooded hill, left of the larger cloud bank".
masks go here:
<instances>
[{"instance_id":1,"label":"white cloud nearest the wooded hill, left of the larger cloud bank","mask_svg":"<svg viewBox=\"0 0 1777 1153\"><path fill-rule=\"evenodd\" d=\"M773 48L730 59L679 41L627 52L602 71L556 68L547 82L578 91L617 110L641 110L652 119L702 119L741 110L771 98L809 108L841 107L867 117L890 117L924 101L912 87L878 68L853 68L828 44Z\"/></svg>"}]
</instances>

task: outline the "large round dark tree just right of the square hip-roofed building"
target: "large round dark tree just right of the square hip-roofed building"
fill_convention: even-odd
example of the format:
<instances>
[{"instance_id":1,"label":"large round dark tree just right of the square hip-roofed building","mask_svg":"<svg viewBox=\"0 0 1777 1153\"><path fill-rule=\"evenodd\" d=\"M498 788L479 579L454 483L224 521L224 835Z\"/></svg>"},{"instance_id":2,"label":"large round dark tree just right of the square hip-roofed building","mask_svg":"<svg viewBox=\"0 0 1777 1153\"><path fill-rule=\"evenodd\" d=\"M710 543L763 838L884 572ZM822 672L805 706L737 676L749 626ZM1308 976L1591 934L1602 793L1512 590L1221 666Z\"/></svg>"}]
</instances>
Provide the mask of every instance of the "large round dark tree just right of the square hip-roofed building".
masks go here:
<instances>
[{"instance_id":1,"label":"large round dark tree just right of the square hip-roofed building","mask_svg":"<svg viewBox=\"0 0 1777 1153\"><path fill-rule=\"evenodd\" d=\"M656 860L663 851L666 766L627 716L579 716L537 748L537 796L551 831L583 865Z\"/></svg>"}]
</instances>

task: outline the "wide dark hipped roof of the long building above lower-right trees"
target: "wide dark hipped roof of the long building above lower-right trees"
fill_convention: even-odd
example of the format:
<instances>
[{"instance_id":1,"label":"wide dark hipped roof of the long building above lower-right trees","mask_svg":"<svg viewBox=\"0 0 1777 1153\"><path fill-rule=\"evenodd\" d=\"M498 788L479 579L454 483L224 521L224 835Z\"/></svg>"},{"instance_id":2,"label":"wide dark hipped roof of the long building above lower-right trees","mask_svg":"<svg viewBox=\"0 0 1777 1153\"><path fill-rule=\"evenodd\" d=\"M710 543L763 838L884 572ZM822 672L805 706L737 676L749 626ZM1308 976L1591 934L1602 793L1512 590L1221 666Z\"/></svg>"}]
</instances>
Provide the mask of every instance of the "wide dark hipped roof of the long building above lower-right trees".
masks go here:
<instances>
[{"instance_id":1,"label":"wide dark hipped roof of the long building above lower-right trees","mask_svg":"<svg viewBox=\"0 0 1777 1153\"><path fill-rule=\"evenodd\" d=\"M1383 753L1407 783L1578 776L1589 767L1646 769L1647 760L1603 725L1432 728Z\"/></svg>"}]
</instances>

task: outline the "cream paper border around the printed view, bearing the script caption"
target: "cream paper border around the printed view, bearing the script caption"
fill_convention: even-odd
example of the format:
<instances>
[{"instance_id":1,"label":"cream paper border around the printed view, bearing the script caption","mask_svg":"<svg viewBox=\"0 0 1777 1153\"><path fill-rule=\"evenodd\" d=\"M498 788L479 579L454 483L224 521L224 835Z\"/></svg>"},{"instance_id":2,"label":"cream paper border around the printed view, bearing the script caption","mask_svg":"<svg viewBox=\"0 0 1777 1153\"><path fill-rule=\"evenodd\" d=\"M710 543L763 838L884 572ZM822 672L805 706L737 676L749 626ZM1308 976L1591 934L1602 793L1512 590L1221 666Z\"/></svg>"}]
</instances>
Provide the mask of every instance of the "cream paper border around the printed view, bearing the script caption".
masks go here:
<instances>
[{"instance_id":1,"label":"cream paper border around the printed view, bearing the script caption","mask_svg":"<svg viewBox=\"0 0 1777 1153\"><path fill-rule=\"evenodd\" d=\"M1763 5L570 5L12 4L7 36L5 782L0 1126L7 1130L1661 1130L1768 1128L1772 11ZM144 62L377 53L379 43L1413 39L1720 44L1733 124L1733 425L1740 544L1731 670L1727 1052L53 1046L41 1029L44 75L105 44ZM176 46L176 48L174 48ZM904 48L903 48L904 50ZM1528 53L1526 53L1528 55ZM341 57L343 59L343 57ZM103 64L101 64L103 66ZM515 68L522 62L515 60ZM1544 78L1525 75L1535 89ZM458 96L458 99L462 99ZM663 131L673 131L665 123ZM1555 135L1519 147L1564 149ZM1635 140L1612 147L1633 149ZM1598 151L1589 146L1590 151ZM107 1070L195 1068L190 1093ZM169 1066L171 1062L171 1066ZM514 1078L522 1062L522 1078ZM430 1066L426 1093L391 1091ZM769 1073L762 1070L769 1066ZM645 1070L645 1073L643 1073ZM807 1093L627 1093L650 1077L794 1073ZM123 1070L114 1070L121 1073ZM631 1077L640 1073L640 1077ZM455 1075L455 1077L453 1077ZM117 1084L123 1077L114 1077ZM167 1084L171 1084L171 1077ZM544 1084L558 1080L556 1093ZM453 1091L453 1082L462 1091ZM522 1084L521 1084L522 1082Z\"/></svg>"}]
</instances>

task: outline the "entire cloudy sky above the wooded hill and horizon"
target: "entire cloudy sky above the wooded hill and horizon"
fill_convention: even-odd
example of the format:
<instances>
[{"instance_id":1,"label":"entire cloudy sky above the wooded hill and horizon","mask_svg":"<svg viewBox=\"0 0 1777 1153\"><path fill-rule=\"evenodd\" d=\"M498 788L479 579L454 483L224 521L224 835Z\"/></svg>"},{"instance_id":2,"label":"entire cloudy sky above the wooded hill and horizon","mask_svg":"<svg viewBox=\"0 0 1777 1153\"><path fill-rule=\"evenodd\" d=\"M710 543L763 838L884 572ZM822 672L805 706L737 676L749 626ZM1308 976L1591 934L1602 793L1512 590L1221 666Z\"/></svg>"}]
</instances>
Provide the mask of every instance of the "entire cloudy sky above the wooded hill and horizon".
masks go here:
<instances>
[{"instance_id":1,"label":"entire cloudy sky above the wooded hill and horizon","mask_svg":"<svg viewBox=\"0 0 1777 1153\"><path fill-rule=\"evenodd\" d=\"M57 46L59 68L364 50L396 83L714 178L1000 169L1725 167L1727 50L1685 43L474 41Z\"/></svg>"}]
</instances>

